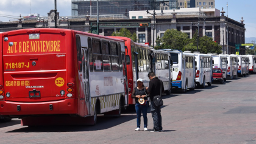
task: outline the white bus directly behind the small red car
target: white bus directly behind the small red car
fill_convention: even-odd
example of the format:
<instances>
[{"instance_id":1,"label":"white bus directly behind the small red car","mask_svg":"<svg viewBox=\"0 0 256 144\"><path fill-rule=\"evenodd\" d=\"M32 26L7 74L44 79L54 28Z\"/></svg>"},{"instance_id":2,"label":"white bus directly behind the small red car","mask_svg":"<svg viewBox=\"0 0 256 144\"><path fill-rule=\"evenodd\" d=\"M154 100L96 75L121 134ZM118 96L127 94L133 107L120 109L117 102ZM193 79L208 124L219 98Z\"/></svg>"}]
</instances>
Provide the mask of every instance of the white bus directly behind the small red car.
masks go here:
<instances>
[{"instance_id":1,"label":"white bus directly behind the small red car","mask_svg":"<svg viewBox=\"0 0 256 144\"><path fill-rule=\"evenodd\" d=\"M212 55L213 68L222 70L224 81L227 80L227 56L226 55Z\"/></svg>"}]
</instances>

